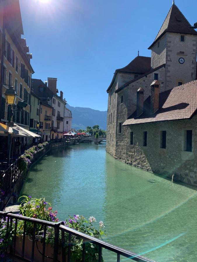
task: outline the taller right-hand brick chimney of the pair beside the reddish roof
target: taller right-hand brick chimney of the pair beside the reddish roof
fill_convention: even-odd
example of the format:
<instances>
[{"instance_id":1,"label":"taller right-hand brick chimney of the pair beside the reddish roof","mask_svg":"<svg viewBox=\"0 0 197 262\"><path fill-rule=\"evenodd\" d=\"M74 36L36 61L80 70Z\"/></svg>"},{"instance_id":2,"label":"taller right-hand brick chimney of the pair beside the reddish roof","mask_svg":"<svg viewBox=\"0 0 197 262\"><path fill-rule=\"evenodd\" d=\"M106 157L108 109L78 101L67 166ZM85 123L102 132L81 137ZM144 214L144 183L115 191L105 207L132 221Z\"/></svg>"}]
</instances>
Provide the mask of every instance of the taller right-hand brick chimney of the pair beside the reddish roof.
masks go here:
<instances>
[{"instance_id":1,"label":"taller right-hand brick chimney of the pair beside the reddish roof","mask_svg":"<svg viewBox=\"0 0 197 262\"><path fill-rule=\"evenodd\" d=\"M159 86L158 80L154 80L151 84L151 114L159 109Z\"/></svg>"}]
</instances>

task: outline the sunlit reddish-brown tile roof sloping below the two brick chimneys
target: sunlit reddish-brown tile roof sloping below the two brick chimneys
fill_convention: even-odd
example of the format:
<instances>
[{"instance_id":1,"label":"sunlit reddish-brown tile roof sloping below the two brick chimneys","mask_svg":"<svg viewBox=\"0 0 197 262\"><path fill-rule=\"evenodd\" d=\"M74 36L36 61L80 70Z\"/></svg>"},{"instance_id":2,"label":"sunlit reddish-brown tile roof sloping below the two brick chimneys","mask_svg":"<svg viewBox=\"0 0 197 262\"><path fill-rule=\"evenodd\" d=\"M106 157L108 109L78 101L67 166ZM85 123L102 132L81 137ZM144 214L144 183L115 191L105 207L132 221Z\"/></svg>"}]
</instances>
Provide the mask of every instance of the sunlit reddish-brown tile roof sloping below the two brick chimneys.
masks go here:
<instances>
[{"instance_id":1,"label":"sunlit reddish-brown tile roof sloping below the two brick chimneys","mask_svg":"<svg viewBox=\"0 0 197 262\"><path fill-rule=\"evenodd\" d=\"M159 109L154 114L150 114L150 101L149 96L144 101L144 112L137 117L135 111L123 125L191 118L197 109L197 80L160 93Z\"/></svg>"}]
</instances>

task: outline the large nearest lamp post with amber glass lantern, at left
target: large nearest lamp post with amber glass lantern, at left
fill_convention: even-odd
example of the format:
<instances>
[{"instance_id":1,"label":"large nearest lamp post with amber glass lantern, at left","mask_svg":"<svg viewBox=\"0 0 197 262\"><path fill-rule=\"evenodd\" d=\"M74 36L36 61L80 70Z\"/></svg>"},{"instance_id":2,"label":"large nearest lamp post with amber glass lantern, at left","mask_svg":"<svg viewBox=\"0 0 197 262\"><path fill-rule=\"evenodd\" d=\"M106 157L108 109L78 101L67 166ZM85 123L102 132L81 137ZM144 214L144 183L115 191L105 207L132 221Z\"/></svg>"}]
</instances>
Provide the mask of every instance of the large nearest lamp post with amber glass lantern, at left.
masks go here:
<instances>
[{"instance_id":1,"label":"large nearest lamp post with amber glass lantern, at left","mask_svg":"<svg viewBox=\"0 0 197 262\"><path fill-rule=\"evenodd\" d=\"M16 92L13 89L13 86L8 85L9 88L6 90L5 94L5 98L6 98L6 103L8 105L8 123L11 122L11 116L12 116L12 106L15 104L16 101ZM10 142L11 142L11 135L8 134L8 152L7 152L7 167L9 167L10 165L10 150L11 150L11 146L10 146Z\"/></svg>"}]
</instances>

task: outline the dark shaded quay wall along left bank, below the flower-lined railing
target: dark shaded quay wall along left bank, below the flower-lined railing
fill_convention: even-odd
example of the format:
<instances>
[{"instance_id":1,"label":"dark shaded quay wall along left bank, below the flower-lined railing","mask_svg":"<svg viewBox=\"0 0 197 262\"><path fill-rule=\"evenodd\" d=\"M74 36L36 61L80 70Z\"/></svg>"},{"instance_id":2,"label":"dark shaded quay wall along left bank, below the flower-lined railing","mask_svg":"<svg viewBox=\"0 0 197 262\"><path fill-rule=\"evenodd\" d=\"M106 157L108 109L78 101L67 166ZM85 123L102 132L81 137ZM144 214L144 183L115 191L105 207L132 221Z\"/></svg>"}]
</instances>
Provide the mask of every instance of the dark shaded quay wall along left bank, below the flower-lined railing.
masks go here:
<instances>
[{"instance_id":1,"label":"dark shaded quay wall along left bank, below the flower-lined railing","mask_svg":"<svg viewBox=\"0 0 197 262\"><path fill-rule=\"evenodd\" d=\"M25 179L27 177L27 174L32 164L38 161L41 157L43 157L43 155L45 155L49 150L53 148L70 146L70 145L76 144L77 142L78 140L65 141L63 139L55 139L55 140L49 141L49 144L45 148L43 148L42 150L39 150L34 155L34 158L31 160L31 164L29 165L26 171L22 171L17 167L19 160L16 160L15 163L13 163L13 165L9 167L8 171L5 173L5 176L8 176L10 179L11 171L14 170L17 172L17 174L14 174L14 176L16 177L15 182L10 184L9 191L5 192L5 195L1 197L0 210L1 211L4 210L5 206L9 203L17 202L18 196L20 194L20 191L22 189L22 186L25 182ZM12 174L12 177L13 177L13 174Z\"/></svg>"}]
</instances>

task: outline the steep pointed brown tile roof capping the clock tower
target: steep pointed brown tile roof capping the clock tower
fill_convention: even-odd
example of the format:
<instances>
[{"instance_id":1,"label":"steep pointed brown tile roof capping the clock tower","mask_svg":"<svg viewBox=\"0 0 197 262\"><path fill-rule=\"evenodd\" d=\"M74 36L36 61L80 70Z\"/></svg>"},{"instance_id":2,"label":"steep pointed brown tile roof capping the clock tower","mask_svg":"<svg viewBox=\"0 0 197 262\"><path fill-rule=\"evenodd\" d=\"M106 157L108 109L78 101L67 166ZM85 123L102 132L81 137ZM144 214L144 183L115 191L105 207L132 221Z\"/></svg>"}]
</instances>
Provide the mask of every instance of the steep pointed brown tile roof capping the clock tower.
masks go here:
<instances>
[{"instance_id":1,"label":"steep pointed brown tile roof capping the clock tower","mask_svg":"<svg viewBox=\"0 0 197 262\"><path fill-rule=\"evenodd\" d=\"M196 30L190 27L191 24L187 21L179 8L173 4L161 26L161 29L159 30L154 42L149 47L149 49L159 38L163 36L165 32L197 35Z\"/></svg>"}]
</instances>

